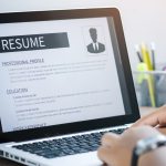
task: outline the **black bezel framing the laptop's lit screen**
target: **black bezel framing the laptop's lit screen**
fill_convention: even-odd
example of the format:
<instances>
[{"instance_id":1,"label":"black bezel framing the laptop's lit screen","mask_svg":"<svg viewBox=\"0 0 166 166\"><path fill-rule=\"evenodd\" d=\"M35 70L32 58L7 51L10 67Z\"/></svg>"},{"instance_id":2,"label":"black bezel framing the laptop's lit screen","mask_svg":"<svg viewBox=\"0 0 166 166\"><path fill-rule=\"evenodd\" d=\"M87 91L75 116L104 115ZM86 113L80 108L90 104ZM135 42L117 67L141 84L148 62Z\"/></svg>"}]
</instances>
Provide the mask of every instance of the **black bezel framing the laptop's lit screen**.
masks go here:
<instances>
[{"instance_id":1,"label":"black bezel framing the laptop's lit screen","mask_svg":"<svg viewBox=\"0 0 166 166\"><path fill-rule=\"evenodd\" d=\"M120 49L125 82L127 85L126 91L128 92L128 100L131 103L132 114L116 117L106 117L101 120L91 120L85 122L75 122L70 124L61 124L42 128L0 133L0 143L21 142L34 138L77 133L83 131L98 129L116 125L124 125L126 123L133 123L139 118L138 105L136 101L136 94L127 55L126 43L123 33L122 21L120 12L116 8L0 13L0 23L97 18L97 17L112 17L114 19L116 39Z\"/></svg>"}]
</instances>

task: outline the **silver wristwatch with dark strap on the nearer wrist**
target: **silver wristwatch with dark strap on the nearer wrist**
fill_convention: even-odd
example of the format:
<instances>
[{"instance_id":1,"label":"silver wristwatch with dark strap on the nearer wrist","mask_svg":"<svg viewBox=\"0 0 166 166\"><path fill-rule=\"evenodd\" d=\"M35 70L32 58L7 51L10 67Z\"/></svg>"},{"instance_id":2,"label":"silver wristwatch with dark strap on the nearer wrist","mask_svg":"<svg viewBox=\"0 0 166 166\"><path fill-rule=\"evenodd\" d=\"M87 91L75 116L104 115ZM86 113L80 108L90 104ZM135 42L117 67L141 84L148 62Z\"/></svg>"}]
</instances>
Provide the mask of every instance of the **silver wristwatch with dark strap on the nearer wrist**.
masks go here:
<instances>
[{"instance_id":1,"label":"silver wristwatch with dark strap on the nearer wrist","mask_svg":"<svg viewBox=\"0 0 166 166\"><path fill-rule=\"evenodd\" d=\"M132 166L137 166L138 158L141 155L146 154L164 145L166 145L166 136L162 134L138 141L133 149Z\"/></svg>"}]
</instances>

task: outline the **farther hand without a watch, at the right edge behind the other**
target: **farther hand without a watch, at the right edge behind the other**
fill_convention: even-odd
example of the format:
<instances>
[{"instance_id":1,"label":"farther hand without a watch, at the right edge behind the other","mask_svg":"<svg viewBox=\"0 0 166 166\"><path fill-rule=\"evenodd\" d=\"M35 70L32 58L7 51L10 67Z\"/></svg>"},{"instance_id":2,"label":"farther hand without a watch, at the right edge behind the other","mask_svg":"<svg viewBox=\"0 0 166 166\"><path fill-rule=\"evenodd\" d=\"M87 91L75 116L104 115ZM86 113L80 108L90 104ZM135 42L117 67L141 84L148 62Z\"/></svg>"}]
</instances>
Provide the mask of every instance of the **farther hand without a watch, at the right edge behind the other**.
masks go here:
<instances>
[{"instance_id":1,"label":"farther hand without a watch, at the right edge behind the other","mask_svg":"<svg viewBox=\"0 0 166 166\"><path fill-rule=\"evenodd\" d=\"M143 125L149 125L153 127L166 126L166 105L157 108L152 114L148 114L148 115L142 117L132 127L143 126Z\"/></svg>"}]
</instances>

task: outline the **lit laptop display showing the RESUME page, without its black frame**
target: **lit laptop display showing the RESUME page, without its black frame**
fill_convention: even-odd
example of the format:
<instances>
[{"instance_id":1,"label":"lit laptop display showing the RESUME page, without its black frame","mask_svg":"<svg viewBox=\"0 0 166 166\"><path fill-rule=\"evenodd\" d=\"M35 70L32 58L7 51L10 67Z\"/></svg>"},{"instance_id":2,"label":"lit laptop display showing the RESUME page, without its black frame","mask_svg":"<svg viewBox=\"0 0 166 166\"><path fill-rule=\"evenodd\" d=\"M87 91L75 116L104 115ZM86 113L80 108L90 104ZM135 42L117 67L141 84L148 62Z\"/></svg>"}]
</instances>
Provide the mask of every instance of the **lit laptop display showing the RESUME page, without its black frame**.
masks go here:
<instances>
[{"instance_id":1,"label":"lit laptop display showing the RESUME page, without its black frame","mask_svg":"<svg viewBox=\"0 0 166 166\"><path fill-rule=\"evenodd\" d=\"M132 114L112 17L0 30L2 133Z\"/></svg>"}]
</instances>

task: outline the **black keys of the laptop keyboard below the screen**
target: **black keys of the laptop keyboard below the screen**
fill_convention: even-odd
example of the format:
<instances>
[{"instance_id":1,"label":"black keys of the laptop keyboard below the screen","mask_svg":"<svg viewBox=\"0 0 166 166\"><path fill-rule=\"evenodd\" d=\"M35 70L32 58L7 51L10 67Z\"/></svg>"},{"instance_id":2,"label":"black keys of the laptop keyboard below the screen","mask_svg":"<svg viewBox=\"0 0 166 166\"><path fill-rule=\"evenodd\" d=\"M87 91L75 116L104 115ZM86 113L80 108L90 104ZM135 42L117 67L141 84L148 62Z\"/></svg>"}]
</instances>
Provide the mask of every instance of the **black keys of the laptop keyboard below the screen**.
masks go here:
<instances>
[{"instance_id":1,"label":"black keys of the laptop keyboard below the screen","mask_svg":"<svg viewBox=\"0 0 166 166\"><path fill-rule=\"evenodd\" d=\"M121 134L124 132L124 129L126 128L114 129L108 132ZM43 141L17 145L12 147L45 158L55 158L66 155L74 155L96 151L101 145L101 137L104 133L106 132Z\"/></svg>"}]
</instances>

